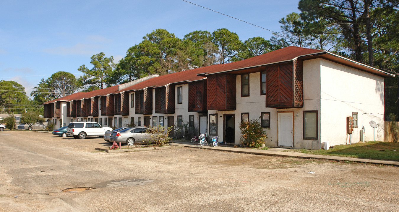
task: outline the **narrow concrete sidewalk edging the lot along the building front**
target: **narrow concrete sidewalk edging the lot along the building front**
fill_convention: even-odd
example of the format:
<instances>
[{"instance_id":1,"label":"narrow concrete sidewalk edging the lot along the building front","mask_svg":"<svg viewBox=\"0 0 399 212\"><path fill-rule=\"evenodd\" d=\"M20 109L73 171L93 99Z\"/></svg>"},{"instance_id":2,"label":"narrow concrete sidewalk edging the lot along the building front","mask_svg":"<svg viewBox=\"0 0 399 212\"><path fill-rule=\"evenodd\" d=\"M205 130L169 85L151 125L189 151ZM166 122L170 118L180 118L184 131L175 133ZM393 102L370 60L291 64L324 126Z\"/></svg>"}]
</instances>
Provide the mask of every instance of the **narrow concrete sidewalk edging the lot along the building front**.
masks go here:
<instances>
[{"instance_id":1,"label":"narrow concrete sidewalk edging the lot along the building front","mask_svg":"<svg viewBox=\"0 0 399 212\"><path fill-rule=\"evenodd\" d=\"M355 161L361 163L375 163L375 164L399 166L399 161L360 159L360 158L349 158L349 157L340 157L340 156L324 156L324 155L304 154L299 152L282 152L286 150L284 148L269 148L269 150L254 150L247 148L235 148L224 145L212 147L212 146L201 146L198 143L190 143L189 141L173 141L173 143L169 145L178 145L178 146L186 146L191 148L201 148L201 149L218 150L225 152L237 152L237 153L255 154L255 155L294 157L294 158L305 158L305 159L316 158L316 159L328 159L336 161Z\"/></svg>"}]
</instances>

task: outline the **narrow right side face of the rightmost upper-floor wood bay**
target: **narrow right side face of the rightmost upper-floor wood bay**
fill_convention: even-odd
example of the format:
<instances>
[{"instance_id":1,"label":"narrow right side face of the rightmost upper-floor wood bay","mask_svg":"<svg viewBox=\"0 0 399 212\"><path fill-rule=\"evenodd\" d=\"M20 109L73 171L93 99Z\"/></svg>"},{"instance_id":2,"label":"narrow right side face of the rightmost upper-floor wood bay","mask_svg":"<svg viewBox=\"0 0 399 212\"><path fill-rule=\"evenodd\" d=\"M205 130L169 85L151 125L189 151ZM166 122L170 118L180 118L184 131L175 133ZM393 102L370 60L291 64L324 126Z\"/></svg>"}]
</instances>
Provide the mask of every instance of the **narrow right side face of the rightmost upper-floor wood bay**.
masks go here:
<instances>
[{"instance_id":1,"label":"narrow right side face of the rightmost upper-floor wood bay","mask_svg":"<svg viewBox=\"0 0 399 212\"><path fill-rule=\"evenodd\" d=\"M303 107L303 68L302 60L294 61L294 107Z\"/></svg>"}]
</instances>

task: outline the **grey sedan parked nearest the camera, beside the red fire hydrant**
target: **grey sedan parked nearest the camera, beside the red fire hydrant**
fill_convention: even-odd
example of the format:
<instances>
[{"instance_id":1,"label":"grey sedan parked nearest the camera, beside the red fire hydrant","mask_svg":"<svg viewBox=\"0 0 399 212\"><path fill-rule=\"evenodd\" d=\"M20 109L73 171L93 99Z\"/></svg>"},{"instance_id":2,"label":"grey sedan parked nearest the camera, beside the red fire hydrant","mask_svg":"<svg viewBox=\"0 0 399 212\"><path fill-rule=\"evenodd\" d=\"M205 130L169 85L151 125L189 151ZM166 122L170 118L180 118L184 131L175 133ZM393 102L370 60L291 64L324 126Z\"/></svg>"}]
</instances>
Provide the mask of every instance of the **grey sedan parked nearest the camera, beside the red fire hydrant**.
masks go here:
<instances>
[{"instance_id":1,"label":"grey sedan parked nearest the camera, beside the red fire hydrant","mask_svg":"<svg viewBox=\"0 0 399 212\"><path fill-rule=\"evenodd\" d=\"M146 127L133 127L122 129L119 132L111 132L111 135L109 136L109 141L120 142L128 146L146 143L151 138L148 131L151 130Z\"/></svg>"}]
</instances>

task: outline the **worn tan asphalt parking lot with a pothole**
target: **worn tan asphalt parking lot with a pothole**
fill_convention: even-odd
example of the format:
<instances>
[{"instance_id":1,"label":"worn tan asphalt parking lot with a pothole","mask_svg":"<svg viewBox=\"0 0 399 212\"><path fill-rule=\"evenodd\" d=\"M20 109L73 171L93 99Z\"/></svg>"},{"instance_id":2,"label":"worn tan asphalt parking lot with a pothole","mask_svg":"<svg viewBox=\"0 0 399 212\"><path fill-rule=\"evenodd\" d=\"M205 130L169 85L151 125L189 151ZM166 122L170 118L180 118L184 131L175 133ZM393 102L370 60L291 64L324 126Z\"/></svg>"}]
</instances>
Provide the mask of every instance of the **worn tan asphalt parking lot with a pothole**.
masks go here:
<instances>
[{"instance_id":1,"label":"worn tan asphalt parking lot with a pothole","mask_svg":"<svg viewBox=\"0 0 399 212\"><path fill-rule=\"evenodd\" d=\"M2 131L0 212L399 211L399 167L196 148L95 151L101 146L111 145Z\"/></svg>"}]
</instances>

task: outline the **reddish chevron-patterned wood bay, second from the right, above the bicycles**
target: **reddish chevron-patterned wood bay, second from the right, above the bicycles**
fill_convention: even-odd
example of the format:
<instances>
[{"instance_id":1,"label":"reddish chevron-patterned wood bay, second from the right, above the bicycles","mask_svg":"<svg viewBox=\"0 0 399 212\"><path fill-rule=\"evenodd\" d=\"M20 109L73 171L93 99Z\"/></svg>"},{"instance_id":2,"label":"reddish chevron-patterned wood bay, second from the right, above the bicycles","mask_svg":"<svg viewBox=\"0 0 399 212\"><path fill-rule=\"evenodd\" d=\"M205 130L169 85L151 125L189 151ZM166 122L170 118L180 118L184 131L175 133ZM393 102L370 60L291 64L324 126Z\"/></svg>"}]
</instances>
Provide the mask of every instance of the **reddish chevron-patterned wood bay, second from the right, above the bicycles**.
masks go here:
<instances>
[{"instance_id":1,"label":"reddish chevron-patterned wood bay, second from the right, above the bicycles","mask_svg":"<svg viewBox=\"0 0 399 212\"><path fill-rule=\"evenodd\" d=\"M209 76L207 79L207 109L235 110L236 76L233 74L218 74Z\"/></svg>"}]
</instances>

